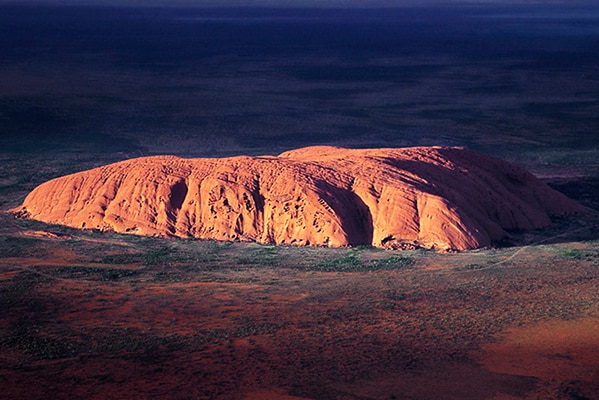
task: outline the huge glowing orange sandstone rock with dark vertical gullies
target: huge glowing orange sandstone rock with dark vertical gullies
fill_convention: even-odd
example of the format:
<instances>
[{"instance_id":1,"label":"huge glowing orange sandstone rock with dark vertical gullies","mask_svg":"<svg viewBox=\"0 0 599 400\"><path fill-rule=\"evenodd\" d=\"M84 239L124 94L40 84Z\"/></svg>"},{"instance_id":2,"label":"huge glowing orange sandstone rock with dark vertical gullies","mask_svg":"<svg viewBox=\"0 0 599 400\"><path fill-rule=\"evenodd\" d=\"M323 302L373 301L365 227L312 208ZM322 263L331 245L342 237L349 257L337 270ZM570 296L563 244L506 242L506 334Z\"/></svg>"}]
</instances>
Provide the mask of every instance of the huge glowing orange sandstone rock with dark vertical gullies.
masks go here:
<instances>
[{"instance_id":1,"label":"huge glowing orange sandstone rock with dark vertical gullies","mask_svg":"<svg viewBox=\"0 0 599 400\"><path fill-rule=\"evenodd\" d=\"M15 214L74 228L277 245L468 250L584 208L461 147L150 156L59 177Z\"/></svg>"}]
</instances>

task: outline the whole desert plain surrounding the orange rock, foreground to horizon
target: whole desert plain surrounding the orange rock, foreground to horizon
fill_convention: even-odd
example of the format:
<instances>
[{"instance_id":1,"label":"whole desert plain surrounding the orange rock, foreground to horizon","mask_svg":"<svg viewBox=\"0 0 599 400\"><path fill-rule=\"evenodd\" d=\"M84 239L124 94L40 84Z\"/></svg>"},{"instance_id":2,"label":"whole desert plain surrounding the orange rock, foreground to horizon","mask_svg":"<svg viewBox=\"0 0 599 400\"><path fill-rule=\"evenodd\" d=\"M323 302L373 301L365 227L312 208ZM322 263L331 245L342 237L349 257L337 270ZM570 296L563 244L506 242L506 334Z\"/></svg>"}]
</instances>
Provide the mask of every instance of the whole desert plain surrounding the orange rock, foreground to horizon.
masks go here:
<instances>
[{"instance_id":1,"label":"whole desert plain surrounding the orange rock, foreground to horizon","mask_svg":"<svg viewBox=\"0 0 599 400\"><path fill-rule=\"evenodd\" d=\"M0 397L599 398L597 18L2 6ZM464 146L595 213L443 253L6 212L134 157L309 145Z\"/></svg>"}]
</instances>

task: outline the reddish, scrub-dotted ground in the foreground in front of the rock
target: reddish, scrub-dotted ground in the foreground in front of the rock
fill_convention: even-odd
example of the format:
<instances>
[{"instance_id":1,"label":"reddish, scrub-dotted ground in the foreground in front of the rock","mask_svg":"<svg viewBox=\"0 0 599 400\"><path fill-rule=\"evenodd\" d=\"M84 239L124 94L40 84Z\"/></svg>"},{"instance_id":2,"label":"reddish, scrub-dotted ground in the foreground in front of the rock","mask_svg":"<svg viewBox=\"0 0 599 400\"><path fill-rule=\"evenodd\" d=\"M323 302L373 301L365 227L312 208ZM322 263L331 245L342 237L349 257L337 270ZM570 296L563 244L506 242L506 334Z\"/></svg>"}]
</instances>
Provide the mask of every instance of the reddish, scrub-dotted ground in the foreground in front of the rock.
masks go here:
<instances>
[{"instance_id":1,"label":"reddish, scrub-dotted ground in the foreground in front of the rock","mask_svg":"<svg viewBox=\"0 0 599 400\"><path fill-rule=\"evenodd\" d=\"M597 220L439 254L1 215L4 399L593 399Z\"/></svg>"}]
</instances>

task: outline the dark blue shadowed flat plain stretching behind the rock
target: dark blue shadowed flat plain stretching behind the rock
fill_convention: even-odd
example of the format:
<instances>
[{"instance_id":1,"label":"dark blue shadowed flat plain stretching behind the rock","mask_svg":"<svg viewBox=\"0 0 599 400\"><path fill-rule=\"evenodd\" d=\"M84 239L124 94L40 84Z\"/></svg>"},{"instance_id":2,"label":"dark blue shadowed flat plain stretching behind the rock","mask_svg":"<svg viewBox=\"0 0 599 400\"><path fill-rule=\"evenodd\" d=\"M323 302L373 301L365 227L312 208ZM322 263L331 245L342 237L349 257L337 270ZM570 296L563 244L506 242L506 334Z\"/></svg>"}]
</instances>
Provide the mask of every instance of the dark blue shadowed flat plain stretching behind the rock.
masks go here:
<instances>
[{"instance_id":1,"label":"dark blue shadowed flat plain stretching behind the rock","mask_svg":"<svg viewBox=\"0 0 599 400\"><path fill-rule=\"evenodd\" d=\"M0 11L4 151L458 145L597 171L593 5Z\"/></svg>"}]
</instances>

